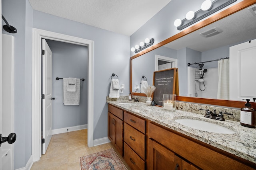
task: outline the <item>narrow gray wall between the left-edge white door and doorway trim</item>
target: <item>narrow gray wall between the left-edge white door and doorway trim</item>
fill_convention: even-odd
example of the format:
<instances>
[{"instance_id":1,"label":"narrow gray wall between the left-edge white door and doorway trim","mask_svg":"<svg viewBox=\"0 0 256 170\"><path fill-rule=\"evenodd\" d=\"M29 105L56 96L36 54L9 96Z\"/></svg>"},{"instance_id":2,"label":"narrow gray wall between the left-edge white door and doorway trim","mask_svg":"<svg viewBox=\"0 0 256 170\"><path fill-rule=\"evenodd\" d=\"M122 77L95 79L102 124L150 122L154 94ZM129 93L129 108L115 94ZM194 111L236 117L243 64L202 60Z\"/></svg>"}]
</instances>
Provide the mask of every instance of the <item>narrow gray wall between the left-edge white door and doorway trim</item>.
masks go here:
<instances>
[{"instance_id":1,"label":"narrow gray wall between the left-edge white door and doorway trim","mask_svg":"<svg viewBox=\"0 0 256 170\"><path fill-rule=\"evenodd\" d=\"M14 36L14 169L25 167L32 154L32 21L28 0L2 0L2 14L18 30ZM2 20L2 25L5 25Z\"/></svg>"}]
</instances>

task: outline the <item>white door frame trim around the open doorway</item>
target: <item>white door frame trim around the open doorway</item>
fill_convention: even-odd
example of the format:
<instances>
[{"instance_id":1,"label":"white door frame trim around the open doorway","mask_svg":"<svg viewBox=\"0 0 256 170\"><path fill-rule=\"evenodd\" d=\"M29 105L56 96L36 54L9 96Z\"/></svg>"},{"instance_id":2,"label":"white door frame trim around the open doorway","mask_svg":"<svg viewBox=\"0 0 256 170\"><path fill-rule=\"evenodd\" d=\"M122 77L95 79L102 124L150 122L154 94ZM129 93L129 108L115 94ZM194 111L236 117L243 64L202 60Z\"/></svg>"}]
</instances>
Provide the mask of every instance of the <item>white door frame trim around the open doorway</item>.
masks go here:
<instances>
[{"instance_id":1,"label":"white door frame trim around the open doorway","mask_svg":"<svg viewBox=\"0 0 256 170\"><path fill-rule=\"evenodd\" d=\"M33 28L32 39L32 156L38 161L41 153L41 39L51 39L88 47L88 147L93 147L93 41Z\"/></svg>"}]
</instances>

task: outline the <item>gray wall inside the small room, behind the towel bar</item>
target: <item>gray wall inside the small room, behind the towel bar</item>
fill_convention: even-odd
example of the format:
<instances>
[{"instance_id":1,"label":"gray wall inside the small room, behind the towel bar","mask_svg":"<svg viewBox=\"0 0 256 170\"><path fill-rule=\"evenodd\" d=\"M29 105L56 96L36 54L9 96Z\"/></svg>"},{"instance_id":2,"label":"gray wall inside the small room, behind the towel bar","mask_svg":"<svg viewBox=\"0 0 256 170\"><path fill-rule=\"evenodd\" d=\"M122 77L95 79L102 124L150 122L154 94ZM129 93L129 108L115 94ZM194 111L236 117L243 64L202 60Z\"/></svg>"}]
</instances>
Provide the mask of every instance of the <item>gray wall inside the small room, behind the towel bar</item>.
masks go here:
<instances>
[{"instance_id":1,"label":"gray wall inside the small room, behind the towel bar","mask_svg":"<svg viewBox=\"0 0 256 170\"><path fill-rule=\"evenodd\" d=\"M52 51L52 129L87 124L87 47L46 40ZM63 80L59 78L84 78L80 86L80 105L64 106Z\"/></svg>"}]
</instances>

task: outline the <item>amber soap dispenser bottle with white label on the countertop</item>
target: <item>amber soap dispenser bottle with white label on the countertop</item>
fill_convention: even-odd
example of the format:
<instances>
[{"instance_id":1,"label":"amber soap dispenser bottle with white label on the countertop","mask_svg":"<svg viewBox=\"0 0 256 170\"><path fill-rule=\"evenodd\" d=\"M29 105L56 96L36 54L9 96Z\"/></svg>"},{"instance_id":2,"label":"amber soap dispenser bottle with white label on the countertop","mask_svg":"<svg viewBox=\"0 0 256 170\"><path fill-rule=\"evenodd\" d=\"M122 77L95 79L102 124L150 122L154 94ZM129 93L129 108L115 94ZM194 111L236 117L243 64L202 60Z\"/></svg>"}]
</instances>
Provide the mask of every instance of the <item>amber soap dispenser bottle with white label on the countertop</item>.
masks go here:
<instances>
[{"instance_id":1,"label":"amber soap dispenser bottle with white label on the countertop","mask_svg":"<svg viewBox=\"0 0 256 170\"><path fill-rule=\"evenodd\" d=\"M240 124L245 127L256 127L256 112L255 109L251 108L251 104L249 103L250 99L247 100L245 107L240 109Z\"/></svg>"}]
</instances>

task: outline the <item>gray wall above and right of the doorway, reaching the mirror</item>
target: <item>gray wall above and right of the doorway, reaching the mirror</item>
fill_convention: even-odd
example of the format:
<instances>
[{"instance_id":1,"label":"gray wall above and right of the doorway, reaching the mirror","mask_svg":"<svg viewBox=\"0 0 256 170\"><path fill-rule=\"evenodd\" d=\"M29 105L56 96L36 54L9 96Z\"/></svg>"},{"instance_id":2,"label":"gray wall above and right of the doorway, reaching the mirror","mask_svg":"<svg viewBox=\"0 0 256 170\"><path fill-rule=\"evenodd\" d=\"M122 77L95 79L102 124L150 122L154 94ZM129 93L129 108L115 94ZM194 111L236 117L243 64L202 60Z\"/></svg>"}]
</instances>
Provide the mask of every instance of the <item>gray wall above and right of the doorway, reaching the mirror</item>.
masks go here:
<instances>
[{"instance_id":1,"label":"gray wall above and right of the doorway, reaching the mirror","mask_svg":"<svg viewBox=\"0 0 256 170\"><path fill-rule=\"evenodd\" d=\"M33 27L94 41L94 139L107 137L110 76L129 84L129 37L34 10ZM128 95L124 90L122 95Z\"/></svg>"}]
</instances>

